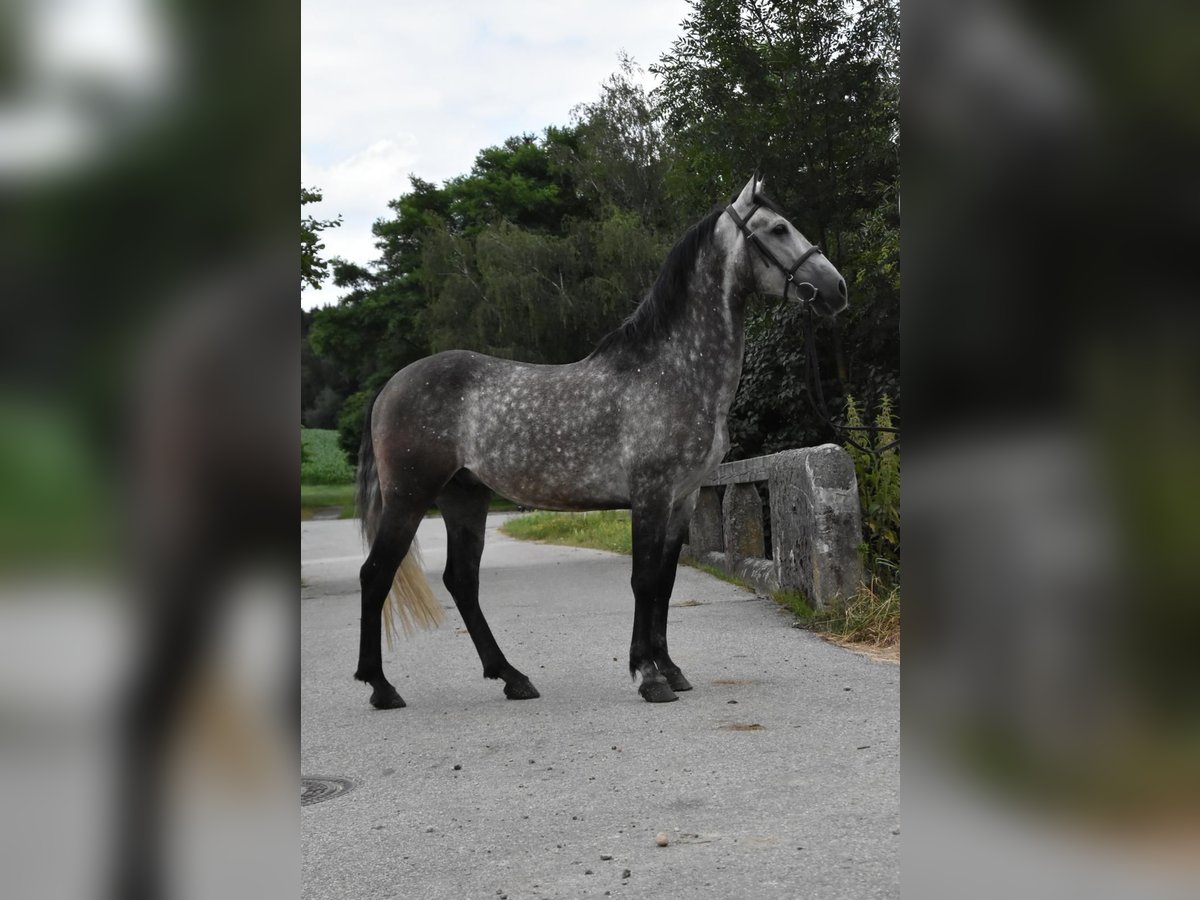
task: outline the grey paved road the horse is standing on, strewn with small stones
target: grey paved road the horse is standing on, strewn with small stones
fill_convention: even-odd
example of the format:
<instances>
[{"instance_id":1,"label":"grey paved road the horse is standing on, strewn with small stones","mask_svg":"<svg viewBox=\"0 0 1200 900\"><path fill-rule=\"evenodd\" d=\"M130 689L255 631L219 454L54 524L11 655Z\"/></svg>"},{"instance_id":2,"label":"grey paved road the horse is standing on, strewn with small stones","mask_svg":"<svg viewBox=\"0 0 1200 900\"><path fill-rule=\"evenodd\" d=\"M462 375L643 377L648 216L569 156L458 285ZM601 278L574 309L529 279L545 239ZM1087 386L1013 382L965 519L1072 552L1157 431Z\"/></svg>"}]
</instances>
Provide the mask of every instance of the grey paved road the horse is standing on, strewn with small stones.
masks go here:
<instances>
[{"instance_id":1,"label":"grey paved road the horse is standing on, strewn with small stones","mask_svg":"<svg viewBox=\"0 0 1200 900\"><path fill-rule=\"evenodd\" d=\"M629 560L498 522L484 611L541 698L481 677L427 520L450 612L384 649L408 702L389 712L352 678L356 523L301 524L301 772L355 782L301 810L305 898L899 896L899 666L682 568L671 650L696 689L646 703L626 668Z\"/></svg>"}]
</instances>

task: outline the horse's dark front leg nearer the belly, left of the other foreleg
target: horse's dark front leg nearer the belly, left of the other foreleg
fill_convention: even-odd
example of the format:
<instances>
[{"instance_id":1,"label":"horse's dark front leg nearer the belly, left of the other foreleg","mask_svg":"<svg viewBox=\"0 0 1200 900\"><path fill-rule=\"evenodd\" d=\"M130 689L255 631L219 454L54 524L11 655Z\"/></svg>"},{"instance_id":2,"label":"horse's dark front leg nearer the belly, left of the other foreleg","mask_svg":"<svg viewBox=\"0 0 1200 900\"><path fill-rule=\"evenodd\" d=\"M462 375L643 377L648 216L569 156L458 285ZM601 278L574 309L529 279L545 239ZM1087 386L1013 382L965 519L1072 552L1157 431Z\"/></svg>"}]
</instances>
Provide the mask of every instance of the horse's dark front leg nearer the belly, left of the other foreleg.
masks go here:
<instances>
[{"instance_id":1,"label":"horse's dark front leg nearer the belly, left of the other foreleg","mask_svg":"<svg viewBox=\"0 0 1200 900\"><path fill-rule=\"evenodd\" d=\"M641 674L637 691L650 703L678 700L654 661L655 604L666 547L670 505L643 500L634 505L634 638L629 646L629 673Z\"/></svg>"}]
</instances>

